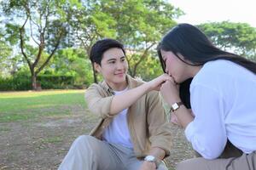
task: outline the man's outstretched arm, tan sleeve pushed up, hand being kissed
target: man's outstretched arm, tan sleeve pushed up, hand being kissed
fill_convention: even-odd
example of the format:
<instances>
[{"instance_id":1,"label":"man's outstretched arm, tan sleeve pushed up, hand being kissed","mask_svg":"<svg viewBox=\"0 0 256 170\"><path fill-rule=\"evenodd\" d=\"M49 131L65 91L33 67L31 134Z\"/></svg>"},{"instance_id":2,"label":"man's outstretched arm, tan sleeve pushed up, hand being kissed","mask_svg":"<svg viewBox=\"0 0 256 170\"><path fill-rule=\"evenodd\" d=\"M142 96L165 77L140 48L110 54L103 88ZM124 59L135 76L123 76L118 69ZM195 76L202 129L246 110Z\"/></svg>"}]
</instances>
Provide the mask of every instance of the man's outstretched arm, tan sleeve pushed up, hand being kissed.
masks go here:
<instances>
[{"instance_id":1,"label":"man's outstretched arm, tan sleeve pushed up, hand being kissed","mask_svg":"<svg viewBox=\"0 0 256 170\"><path fill-rule=\"evenodd\" d=\"M131 106L148 91L154 89L159 90L161 83L168 79L170 79L170 77L164 74L150 82L145 82L137 88L132 88L116 96L108 96L107 92L99 85L92 84L85 92L85 100L92 113L100 115L102 118L114 116Z\"/></svg>"}]
</instances>

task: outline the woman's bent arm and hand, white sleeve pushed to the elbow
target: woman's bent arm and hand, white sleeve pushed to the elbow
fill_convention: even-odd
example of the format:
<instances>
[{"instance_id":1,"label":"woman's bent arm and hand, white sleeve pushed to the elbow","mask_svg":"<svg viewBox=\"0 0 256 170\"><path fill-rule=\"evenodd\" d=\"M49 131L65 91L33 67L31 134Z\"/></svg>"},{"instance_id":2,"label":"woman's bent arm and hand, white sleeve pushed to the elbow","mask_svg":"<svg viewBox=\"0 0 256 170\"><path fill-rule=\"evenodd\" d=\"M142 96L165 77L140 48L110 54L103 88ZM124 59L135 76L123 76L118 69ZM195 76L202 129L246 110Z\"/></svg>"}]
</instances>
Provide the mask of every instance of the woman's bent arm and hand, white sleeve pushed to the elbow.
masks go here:
<instances>
[{"instance_id":1,"label":"woman's bent arm and hand, white sleeve pushed to the elbow","mask_svg":"<svg viewBox=\"0 0 256 170\"><path fill-rule=\"evenodd\" d=\"M180 101L177 89L172 81L162 85L161 94L169 105ZM218 91L197 85L191 88L191 105L195 117L184 105L174 111L194 150L207 159L218 157L226 143L222 101Z\"/></svg>"}]
</instances>

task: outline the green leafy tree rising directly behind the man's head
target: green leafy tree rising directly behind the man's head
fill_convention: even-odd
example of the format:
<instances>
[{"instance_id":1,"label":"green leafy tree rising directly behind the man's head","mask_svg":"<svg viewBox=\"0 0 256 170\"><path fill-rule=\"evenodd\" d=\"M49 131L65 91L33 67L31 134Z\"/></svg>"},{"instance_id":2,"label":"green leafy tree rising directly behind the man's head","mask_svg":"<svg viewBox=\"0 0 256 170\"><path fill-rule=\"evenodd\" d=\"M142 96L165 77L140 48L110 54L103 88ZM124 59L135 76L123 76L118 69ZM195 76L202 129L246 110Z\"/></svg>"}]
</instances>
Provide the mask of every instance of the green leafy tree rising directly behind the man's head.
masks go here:
<instances>
[{"instance_id":1,"label":"green leafy tree rising directly behind the man's head","mask_svg":"<svg viewBox=\"0 0 256 170\"><path fill-rule=\"evenodd\" d=\"M108 3L110 3L109 0ZM115 30L113 27L116 21L106 12L102 11L102 1L73 1L73 5L69 9L71 20L69 22L72 26L71 32L78 39L77 44L84 48L86 54L89 56L90 48L94 42L103 37L115 37ZM94 82L97 82L96 71L93 63L91 63L93 70Z\"/></svg>"}]
</instances>

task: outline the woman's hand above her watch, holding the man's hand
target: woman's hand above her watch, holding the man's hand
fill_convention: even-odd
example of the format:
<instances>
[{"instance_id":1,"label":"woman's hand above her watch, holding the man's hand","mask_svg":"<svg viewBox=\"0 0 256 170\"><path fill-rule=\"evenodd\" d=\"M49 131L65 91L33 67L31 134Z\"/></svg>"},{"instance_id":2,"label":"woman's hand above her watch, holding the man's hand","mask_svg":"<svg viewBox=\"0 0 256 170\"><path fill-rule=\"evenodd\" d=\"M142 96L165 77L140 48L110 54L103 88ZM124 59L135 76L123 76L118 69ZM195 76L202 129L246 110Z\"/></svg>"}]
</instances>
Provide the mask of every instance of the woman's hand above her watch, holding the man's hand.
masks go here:
<instances>
[{"instance_id":1,"label":"woman's hand above her watch, holding the man's hand","mask_svg":"<svg viewBox=\"0 0 256 170\"><path fill-rule=\"evenodd\" d=\"M162 83L160 93L169 105L181 101L179 97L179 85L174 82L172 77L171 80Z\"/></svg>"}]
</instances>

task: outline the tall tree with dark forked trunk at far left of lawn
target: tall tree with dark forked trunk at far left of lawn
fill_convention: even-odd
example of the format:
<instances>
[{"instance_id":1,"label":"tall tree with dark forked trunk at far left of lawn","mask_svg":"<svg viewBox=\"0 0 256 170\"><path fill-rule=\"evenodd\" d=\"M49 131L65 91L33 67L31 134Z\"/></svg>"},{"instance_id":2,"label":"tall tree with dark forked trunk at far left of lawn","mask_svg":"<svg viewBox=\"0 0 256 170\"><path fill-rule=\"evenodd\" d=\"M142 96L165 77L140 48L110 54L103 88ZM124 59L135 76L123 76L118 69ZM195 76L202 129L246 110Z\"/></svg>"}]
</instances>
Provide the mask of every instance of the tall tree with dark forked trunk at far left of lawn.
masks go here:
<instances>
[{"instance_id":1,"label":"tall tree with dark forked trunk at far left of lawn","mask_svg":"<svg viewBox=\"0 0 256 170\"><path fill-rule=\"evenodd\" d=\"M38 88L38 73L48 65L67 33L64 4L64 0L9 0L1 3L3 14L8 18L5 24L9 32L7 37L9 40L19 39L21 54L31 72L35 90ZM44 61L41 60L42 54L48 54Z\"/></svg>"}]
</instances>

